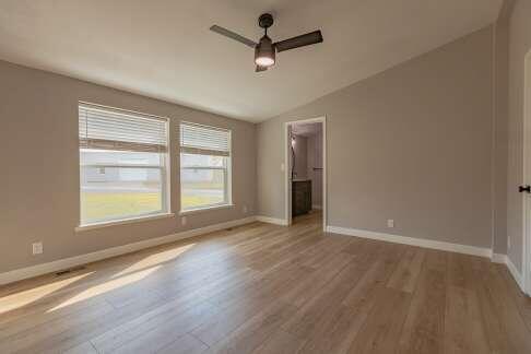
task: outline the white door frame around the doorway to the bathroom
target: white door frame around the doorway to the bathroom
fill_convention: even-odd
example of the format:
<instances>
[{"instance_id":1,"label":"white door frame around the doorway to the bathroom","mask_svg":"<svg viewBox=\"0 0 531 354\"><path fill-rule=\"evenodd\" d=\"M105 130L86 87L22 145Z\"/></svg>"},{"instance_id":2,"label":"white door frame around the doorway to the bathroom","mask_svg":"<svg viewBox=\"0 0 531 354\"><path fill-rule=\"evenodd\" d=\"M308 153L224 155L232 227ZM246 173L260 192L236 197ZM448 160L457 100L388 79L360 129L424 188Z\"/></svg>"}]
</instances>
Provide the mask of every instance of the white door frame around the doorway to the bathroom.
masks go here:
<instances>
[{"instance_id":1,"label":"white door frame around the doorway to the bathroom","mask_svg":"<svg viewBox=\"0 0 531 354\"><path fill-rule=\"evenodd\" d=\"M300 123L312 123L312 122L320 122L322 123L322 231L327 229L327 215L328 215L328 189L327 189L327 117L318 117L311 119L300 119L300 120L291 120L284 123L284 208L285 208L285 220L286 224L292 224L292 155L290 154L291 144L290 141L290 132L291 127L293 125L300 125Z\"/></svg>"}]
</instances>

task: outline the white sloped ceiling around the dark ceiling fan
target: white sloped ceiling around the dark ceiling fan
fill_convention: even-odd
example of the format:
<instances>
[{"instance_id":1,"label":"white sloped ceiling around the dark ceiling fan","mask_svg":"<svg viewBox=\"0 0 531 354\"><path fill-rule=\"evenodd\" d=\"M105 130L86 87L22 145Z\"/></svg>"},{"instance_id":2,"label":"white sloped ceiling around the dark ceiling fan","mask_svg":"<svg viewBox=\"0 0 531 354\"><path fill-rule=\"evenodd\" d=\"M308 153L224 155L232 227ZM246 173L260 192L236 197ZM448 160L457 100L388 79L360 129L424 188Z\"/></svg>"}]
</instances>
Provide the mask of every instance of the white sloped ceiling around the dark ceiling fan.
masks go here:
<instances>
[{"instance_id":1,"label":"white sloped ceiling around the dark ceiling fan","mask_svg":"<svg viewBox=\"0 0 531 354\"><path fill-rule=\"evenodd\" d=\"M2 0L0 59L260 121L480 30L502 1ZM257 40L266 11L273 40L324 43L257 74L252 49L209 31Z\"/></svg>"}]
</instances>

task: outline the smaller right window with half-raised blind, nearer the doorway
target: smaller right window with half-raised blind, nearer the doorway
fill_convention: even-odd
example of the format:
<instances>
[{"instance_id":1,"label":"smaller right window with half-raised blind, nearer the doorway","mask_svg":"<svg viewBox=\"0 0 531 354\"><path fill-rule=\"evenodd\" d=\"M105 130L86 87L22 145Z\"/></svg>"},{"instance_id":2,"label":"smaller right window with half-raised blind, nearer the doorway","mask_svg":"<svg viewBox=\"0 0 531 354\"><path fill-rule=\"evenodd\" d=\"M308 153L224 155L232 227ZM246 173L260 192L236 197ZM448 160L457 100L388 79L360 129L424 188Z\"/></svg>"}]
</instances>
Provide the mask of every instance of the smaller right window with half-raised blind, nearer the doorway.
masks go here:
<instances>
[{"instance_id":1,"label":"smaller right window with half-raised blind, nearer the doorway","mask_svg":"<svg viewBox=\"0 0 531 354\"><path fill-rule=\"evenodd\" d=\"M231 131L180 125L180 208L182 211L232 203Z\"/></svg>"}]
</instances>

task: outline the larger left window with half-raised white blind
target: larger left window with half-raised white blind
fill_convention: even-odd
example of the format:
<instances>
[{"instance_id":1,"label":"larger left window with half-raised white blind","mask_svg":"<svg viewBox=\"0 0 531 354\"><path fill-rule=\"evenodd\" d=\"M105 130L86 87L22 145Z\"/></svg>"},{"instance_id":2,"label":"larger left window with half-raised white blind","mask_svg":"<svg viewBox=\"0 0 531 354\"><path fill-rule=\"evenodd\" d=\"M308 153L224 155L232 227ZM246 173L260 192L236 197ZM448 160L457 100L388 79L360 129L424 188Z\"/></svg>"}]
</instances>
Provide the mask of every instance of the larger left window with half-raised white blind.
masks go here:
<instances>
[{"instance_id":1,"label":"larger left window with half-raised white blind","mask_svg":"<svg viewBox=\"0 0 531 354\"><path fill-rule=\"evenodd\" d=\"M167 120L80 104L81 225L168 212Z\"/></svg>"}]
</instances>

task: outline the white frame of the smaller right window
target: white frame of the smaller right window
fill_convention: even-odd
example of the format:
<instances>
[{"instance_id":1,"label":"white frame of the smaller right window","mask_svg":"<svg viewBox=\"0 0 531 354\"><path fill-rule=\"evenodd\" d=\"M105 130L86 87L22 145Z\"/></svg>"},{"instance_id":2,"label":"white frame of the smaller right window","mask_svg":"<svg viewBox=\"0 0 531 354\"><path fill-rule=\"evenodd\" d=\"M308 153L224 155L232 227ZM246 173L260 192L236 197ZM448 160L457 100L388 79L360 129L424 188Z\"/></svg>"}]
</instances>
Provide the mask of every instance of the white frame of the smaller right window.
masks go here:
<instances>
[{"instance_id":1,"label":"white frame of the smaller right window","mask_svg":"<svg viewBox=\"0 0 531 354\"><path fill-rule=\"evenodd\" d=\"M222 130L226 131L228 133L228 156L226 157L226 167L206 167L206 166L196 166L196 167L182 167L182 157L181 157L181 141L180 141L180 129L182 125L191 125L191 126L198 126L198 127L203 127L206 129L212 129L212 130ZM217 209L227 209L227 208L233 208L233 131L231 129L225 129L225 128L219 128L214 126L205 126L205 125L200 125L191 121L181 121L179 123L179 214L180 215L187 215L187 214L194 214L198 212L204 212L204 211L212 211L212 210L217 210ZM208 154L202 154L210 156ZM222 203L215 203L215 204L209 204L204 206L198 206L198 208L190 208L190 209L184 209L182 206L182 181L181 181L181 176L182 176L182 169L206 169L206 170L212 170L212 169L221 169L224 170L224 180L225 180L225 188L224 188L224 199L225 201Z\"/></svg>"}]
</instances>

